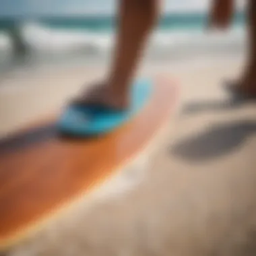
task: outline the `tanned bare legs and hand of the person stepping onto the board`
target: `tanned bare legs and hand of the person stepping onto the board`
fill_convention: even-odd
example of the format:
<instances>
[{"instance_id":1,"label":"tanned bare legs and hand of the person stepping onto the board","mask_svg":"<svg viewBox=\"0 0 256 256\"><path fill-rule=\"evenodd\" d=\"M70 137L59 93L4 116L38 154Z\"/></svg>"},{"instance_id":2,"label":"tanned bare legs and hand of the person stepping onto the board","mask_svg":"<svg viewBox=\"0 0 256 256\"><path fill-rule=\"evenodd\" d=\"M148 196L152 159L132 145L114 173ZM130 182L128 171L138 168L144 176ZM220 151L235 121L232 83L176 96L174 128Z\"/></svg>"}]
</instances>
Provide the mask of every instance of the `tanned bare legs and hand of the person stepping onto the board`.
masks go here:
<instances>
[{"instance_id":1,"label":"tanned bare legs and hand of the person stepping onto the board","mask_svg":"<svg viewBox=\"0 0 256 256\"><path fill-rule=\"evenodd\" d=\"M234 0L214 0L210 15L210 28L228 28L234 11ZM241 80L234 86L236 92L256 96L256 0L248 0L249 60ZM129 104L129 88L133 83L139 57L148 36L159 18L158 0L120 0L119 30L115 58L108 77L102 84L77 99L79 104L93 103L115 109Z\"/></svg>"}]
</instances>

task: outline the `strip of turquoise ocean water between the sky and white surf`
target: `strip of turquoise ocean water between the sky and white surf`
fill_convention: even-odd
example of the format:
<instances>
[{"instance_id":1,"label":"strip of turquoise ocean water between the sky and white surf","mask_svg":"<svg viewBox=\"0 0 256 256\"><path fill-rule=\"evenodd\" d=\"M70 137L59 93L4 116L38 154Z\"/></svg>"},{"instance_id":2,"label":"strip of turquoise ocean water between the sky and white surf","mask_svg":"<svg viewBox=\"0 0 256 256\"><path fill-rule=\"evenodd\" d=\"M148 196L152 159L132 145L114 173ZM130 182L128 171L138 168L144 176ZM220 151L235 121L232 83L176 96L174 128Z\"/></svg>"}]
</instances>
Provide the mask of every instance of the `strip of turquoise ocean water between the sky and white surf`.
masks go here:
<instances>
[{"instance_id":1,"label":"strip of turquoise ocean water between the sky and white surf","mask_svg":"<svg viewBox=\"0 0 256 256\"><path fill-rule=\"evenodd\" d=\"M35 21L49 28L63 30L90 30L92 32L110 32L117 26L117 20L110 15L100 16L71 16L71 17L38 17L38 18L0 18L0 30L12 26L14 22ZM236 13L234 25L243 24L245 16L242 12ZM203 29L207 24L207 13L169 13L162 15L158 24L160 30L189 30Z\"/></svg>"}]
</instances>

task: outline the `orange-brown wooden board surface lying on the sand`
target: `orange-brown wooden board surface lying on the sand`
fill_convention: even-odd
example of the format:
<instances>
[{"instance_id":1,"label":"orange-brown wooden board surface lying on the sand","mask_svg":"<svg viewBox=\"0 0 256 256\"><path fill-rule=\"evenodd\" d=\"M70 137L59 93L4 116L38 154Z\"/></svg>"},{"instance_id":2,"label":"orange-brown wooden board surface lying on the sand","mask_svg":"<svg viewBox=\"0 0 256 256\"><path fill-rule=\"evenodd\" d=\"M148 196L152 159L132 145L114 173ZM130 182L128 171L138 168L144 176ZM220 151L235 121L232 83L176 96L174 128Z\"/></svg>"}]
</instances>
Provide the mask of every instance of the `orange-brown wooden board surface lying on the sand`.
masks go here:
<instances>
[{"instance_id":1,"label":"orange-brown wooden board surface lying on the sand","mask_svg":"<svg viewBox=\"0 0 256 256\"><path fill-rule=\"evenodd\" d=\"M104 137L60 137L52 119L0 141L0 248L133 160L168 121L176 101L177 87L157 80L143 110Z\"/></svg>"}]
</instances>

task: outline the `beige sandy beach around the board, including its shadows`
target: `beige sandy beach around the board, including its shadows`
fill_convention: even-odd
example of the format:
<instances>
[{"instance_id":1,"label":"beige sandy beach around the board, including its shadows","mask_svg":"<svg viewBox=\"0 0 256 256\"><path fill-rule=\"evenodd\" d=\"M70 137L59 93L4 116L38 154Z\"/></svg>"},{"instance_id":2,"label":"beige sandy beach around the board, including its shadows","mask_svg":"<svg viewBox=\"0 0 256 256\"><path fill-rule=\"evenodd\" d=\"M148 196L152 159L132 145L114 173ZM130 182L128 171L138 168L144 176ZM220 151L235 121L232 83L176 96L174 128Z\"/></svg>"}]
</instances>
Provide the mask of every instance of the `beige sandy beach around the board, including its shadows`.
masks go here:
<instances>
[{"instance_id":1,"label":"beige sandy beach around the board, including its shadows","mask_svg":"<svg viewBox=\"0 0 256 256\"><path fill-rule=\"evenodd\" d=\"M256 255L256 108L224 88L241 67L241 57L143 66L139 76L162 74L181 86L179 111L143 181L61 216L7 255ZM3 77L0 135L56 113L104 71Z\"/></svg>"}]
</instances>

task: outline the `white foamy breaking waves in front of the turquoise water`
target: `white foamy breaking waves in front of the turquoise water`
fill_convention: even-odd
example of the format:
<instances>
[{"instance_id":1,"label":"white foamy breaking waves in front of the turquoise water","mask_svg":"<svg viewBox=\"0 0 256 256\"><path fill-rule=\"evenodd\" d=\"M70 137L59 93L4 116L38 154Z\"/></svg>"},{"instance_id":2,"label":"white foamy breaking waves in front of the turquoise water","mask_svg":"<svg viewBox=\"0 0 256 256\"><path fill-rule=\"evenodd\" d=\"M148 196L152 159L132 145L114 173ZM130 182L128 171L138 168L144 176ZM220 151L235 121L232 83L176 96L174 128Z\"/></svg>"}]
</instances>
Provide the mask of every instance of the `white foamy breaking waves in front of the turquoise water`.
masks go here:
<instances>
[{"instance_id":1,"label":"white foamy breaking waves in front of the turquoise water","mask_svg":"<svg viewBox=\"0 0 256 256\"><path fill-rule=\"evenodd\" d=\"M21 28L24 42L35 52L65 53L87 51L104 54L113 48L113 32L92 32L88 30L57 30L40 24L27 23ZM245 32L233 28L228 32L203 32L198 30L158 30L150 40L154 54L184 54L199 51L237 51L243 49ZM11 46L7 34L0 34L0 49Z\"/></svg>"}]
</instances>

